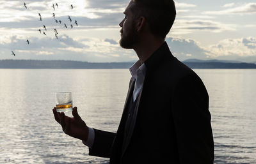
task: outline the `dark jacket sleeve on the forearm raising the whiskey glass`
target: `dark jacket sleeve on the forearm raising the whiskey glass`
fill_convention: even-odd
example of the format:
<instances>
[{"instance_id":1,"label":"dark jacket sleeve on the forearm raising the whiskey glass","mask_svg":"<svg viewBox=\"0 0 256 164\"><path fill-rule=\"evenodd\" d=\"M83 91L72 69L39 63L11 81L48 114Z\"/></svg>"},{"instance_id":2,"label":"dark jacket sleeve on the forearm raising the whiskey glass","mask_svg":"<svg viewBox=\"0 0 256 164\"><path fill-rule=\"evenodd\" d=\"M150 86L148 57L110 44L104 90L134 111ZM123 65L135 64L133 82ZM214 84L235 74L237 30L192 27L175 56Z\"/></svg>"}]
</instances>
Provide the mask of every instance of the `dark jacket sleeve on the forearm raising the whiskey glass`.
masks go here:
<instances>
[{"instance_id":1,"label":"dark jacket sleeve on the forearm raising the whiskey glass","mask_svg":"<svg viewBox=\"0 0 256 164\"><path fill-rule=\"evenodd\" d=\"M116 133L93 129L95 138L92 148L89 148L89 155L110 158L111 146Z\"/></svg>"}]
</instances>

